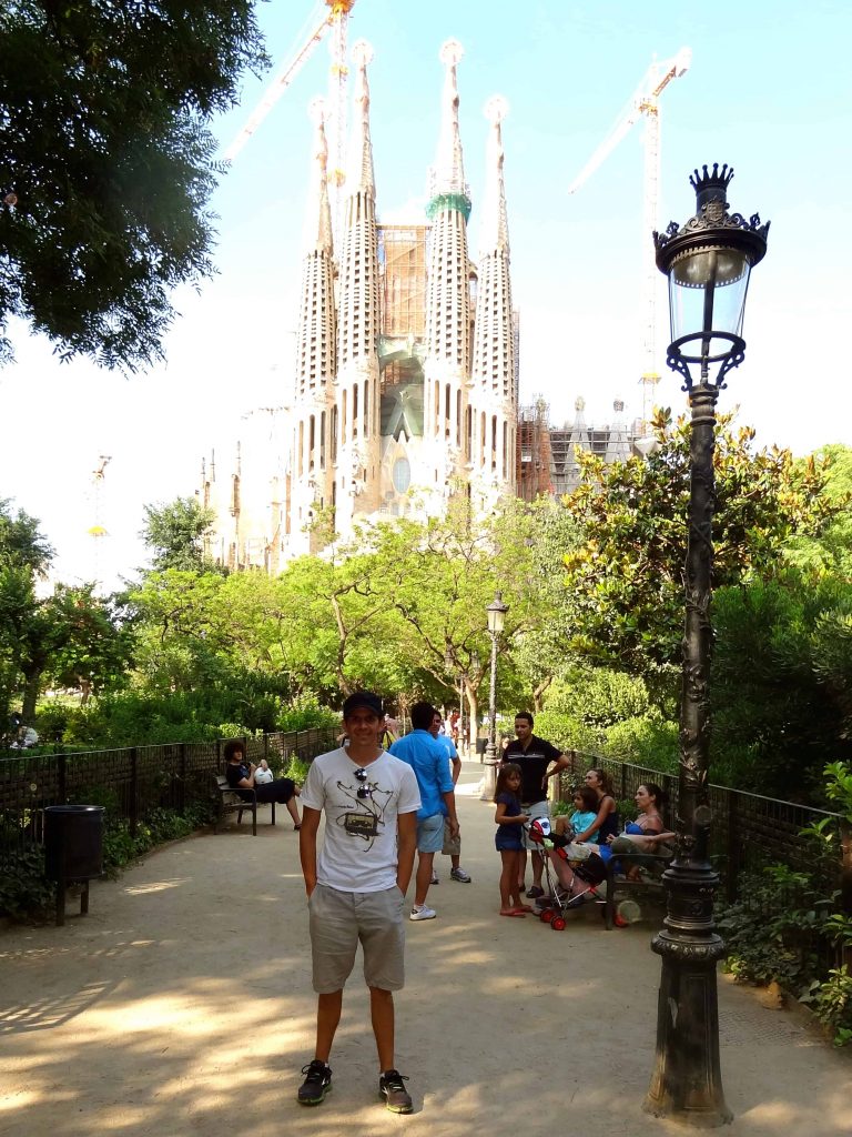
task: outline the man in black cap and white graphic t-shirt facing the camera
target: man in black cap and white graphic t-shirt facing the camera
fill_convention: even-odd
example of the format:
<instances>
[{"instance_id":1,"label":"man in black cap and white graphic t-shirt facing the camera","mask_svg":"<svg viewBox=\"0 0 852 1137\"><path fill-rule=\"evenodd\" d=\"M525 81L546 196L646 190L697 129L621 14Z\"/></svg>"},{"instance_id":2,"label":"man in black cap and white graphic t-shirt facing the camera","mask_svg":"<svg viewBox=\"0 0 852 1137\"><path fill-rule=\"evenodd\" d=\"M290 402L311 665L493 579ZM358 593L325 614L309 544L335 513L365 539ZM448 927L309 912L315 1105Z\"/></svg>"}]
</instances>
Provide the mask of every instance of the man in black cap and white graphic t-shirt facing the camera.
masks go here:
<instances>
[{"instance_id":1,"label":"man in black cap and white graphic t-shirt facing the camera","mask_svg":"<svg viewBox=\"0 0 852 1137\"><path fill-rule=\"evenodd\" d=\"M410 766L379 746L382 700L356 691L343 704L345 747L315 758L302 790L299 854L308 894L317 1047L299 1089L319 1105L332 1088L328 1057L343 986L360 941L378 1049L378 1090L393 1113L410 1113L407 1079L394 1065L393 993L404 982L404 905L411 880L420 795ZM317 831L325 811L323 847Z\"/></svg>"}]
</instances>

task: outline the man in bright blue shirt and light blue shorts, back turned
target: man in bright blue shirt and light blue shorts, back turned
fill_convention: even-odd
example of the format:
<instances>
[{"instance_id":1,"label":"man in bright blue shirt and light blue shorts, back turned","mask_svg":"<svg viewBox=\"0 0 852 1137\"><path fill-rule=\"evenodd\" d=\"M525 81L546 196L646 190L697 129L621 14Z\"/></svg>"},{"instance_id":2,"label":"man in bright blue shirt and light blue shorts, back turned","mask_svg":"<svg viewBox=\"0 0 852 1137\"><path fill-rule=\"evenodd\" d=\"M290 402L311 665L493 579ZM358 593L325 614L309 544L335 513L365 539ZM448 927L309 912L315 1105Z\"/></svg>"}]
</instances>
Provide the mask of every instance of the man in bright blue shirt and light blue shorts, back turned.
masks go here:
<instances>
[{"instance_id":1,"label":"man in bright blue shirt and light blue shorts, back turned","mask_svg":"<svg viewBox=\"0 0 852 1137\"><path fill-rule=\"evenodd\" d=\"M450 837L459 836L456 816L456 792L446 750L432 737L429 728L436 714L431 703L415 703L411 707L414 730L398 738L391 754L407 762L417 775L420 789L420 808L417 813L417 875L415 877L415 905L409 920L434 920L437 913L426 903L432 883L435 854L444 841L444 818L450 822Z\"/></svg>"}]
</instances>

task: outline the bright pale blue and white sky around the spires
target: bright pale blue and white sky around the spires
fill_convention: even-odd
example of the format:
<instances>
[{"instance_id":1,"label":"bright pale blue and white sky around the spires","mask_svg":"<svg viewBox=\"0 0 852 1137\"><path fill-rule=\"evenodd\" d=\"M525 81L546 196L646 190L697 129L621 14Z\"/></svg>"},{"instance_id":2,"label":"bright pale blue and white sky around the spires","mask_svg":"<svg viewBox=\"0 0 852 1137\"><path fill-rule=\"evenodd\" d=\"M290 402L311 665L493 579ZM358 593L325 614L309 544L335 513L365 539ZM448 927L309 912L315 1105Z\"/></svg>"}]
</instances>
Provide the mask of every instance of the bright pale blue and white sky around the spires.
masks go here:
<instances>
[{"instance_id":1,"label":"bright pale blue and white sky around the spires","mask_svg":"<svg viewBox=\"0 0 852 1137\"><path fill-rule=\"evenodd\" d=\"M315 0L259 6L277 65L298 45ZM733 209L771 221L752 276L745 363L721 409L762 445L805 454L852 443L850 363L837 355L852 324L852 6L846 0L356 0L350 45L367 39L379 217L423 199L434 158L442 42L461 41L460 122L476 258L483 199L483 106L503 94L506 184L515 302L521 313L521 401L541 393L554 423L609 422L612 400L642 413L642 124L575 194L567 190L608 134L654 56L686 45L692 66L660 100L661 227L694 211L696 165L735 168ZM0 497L42 521L68 581L109 586L143 562L135 539L144 503L186 496L201 457L227 457L240 415L278 406L292 375L300 243L308 188L308 103L327 86L321 43L223 179L219 274L182 313L167 365L124 379L84 362L60 365L20 329L17 363L0 371ZM274 72L273 72L274 74ZM216 124L223 148L270 76L247 76L242 107ZM665 366L665 280L659 276L657 401L683 408ZM845 334L845 333L844 333ZM100 517L91 472L109 455ZM109 536L86 530L100 520Z\"/></svg>"}]
</instances>

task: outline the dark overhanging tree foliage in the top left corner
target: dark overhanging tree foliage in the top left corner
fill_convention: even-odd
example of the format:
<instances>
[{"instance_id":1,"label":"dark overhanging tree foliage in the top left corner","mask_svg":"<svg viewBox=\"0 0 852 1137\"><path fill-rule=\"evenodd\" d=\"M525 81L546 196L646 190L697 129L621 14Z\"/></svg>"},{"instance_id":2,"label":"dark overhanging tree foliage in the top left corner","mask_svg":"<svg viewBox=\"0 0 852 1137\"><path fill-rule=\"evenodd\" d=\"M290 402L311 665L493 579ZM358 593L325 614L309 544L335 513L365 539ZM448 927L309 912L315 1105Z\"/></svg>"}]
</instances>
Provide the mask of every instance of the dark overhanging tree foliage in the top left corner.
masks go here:
<instances>
[{"instance_id":1,"label":"dark overhanging tree foliage in the top left corner","mask_svg":"<svg viewBox=\"0 0 852 1137\"><path fill-rule=\"evenodd\" d=\"M162 358L170 290L212 273L206 124L266 61L250 0L3 6L0 362L11 317L64 358Z\"/></svg>"}]
</instances>

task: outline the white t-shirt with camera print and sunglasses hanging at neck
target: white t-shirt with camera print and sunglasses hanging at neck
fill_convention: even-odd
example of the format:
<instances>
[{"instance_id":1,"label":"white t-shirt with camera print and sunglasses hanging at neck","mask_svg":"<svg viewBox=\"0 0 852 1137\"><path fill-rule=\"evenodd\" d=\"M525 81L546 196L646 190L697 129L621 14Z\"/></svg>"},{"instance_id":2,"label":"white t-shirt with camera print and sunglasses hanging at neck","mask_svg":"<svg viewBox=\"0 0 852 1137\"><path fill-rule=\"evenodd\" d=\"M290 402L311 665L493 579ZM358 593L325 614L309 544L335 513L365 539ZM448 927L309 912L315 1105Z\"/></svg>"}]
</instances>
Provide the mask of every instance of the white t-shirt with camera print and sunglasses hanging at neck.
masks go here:
<instances>
[{"instance_id":1,"label":"white t-shirt with camera print and sunglasses hanging at neck","mask_svg":"<svg viewBox=\"0 0 852 1137\"><path fill-rule=\"evenodd\" d=\"M357 770L366 777L357 778ZM342 893L379 893L396 883L396 816L420 807L408 763L385 750L366 766L342 748L320 754L311 763L301 804L325 811L318 883Z\"/></svg>"}]
</instances>

